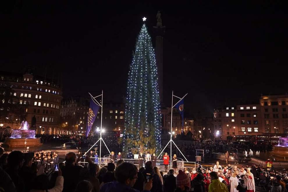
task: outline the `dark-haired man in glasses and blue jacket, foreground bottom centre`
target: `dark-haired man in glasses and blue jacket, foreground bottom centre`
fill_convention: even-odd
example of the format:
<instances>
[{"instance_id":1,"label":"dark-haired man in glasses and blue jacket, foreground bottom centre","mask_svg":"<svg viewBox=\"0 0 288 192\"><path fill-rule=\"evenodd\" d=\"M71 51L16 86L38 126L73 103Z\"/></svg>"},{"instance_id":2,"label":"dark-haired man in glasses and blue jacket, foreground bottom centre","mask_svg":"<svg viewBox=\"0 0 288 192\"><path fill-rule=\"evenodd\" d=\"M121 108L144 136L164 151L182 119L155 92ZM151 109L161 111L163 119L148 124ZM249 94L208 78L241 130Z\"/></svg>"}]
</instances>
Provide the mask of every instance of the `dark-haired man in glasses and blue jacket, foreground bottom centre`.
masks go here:
<instances>
[{"instance_id":1,"label":"dark-haired man in glasses and blue jacket, foreground bottom centre","mask_svg":"<svg viewBox=\"0 0 288 192\"><path fill-rule=\"evenodd\" d=\"M128 162L122 163L115 170L115 178L116 181L104 184L100 192L138 192L138 190L132 188L137 179L137 168L135 165ZM148 192L152 189L152 179L144 183L143 191Z\"/></svg>"}]
</instances>

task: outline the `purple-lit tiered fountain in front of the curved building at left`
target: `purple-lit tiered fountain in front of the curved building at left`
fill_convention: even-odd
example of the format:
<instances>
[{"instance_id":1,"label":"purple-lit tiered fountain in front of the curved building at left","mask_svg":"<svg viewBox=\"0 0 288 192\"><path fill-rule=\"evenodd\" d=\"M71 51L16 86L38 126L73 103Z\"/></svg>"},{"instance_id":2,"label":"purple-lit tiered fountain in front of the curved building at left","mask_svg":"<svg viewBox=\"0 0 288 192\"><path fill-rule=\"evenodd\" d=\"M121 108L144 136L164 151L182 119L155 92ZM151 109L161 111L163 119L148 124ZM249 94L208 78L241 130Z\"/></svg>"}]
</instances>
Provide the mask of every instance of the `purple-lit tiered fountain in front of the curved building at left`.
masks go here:
<instances>
[{"instance_id":1,"label":"purple-lit tiered fountain in front of the curved building at left","mask_svg":"<svg viewBox=\"0 0 288 192\"><path fill-rule=\"evenodd\" d=\"M6 138L5 144L9 147L37 147L41 146L39 138L35 138L35 130L29 129L27 121L22 121L19 129L12 131L11 137Z\"/></svg>"}]
</instances>

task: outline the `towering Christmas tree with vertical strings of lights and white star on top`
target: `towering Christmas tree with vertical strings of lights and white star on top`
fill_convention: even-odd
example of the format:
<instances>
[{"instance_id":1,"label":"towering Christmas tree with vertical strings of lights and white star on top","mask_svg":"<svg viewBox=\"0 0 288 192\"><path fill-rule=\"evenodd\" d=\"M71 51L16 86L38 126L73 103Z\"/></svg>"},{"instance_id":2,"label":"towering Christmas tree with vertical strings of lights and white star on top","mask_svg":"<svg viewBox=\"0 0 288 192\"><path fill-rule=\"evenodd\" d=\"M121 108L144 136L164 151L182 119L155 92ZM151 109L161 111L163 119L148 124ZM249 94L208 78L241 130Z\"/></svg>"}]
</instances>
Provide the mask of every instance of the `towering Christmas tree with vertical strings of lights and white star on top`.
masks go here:
<instances>
[{"instance_id":1,"label":"towering Christmas tree with vertical strings of lights and white star on top","mask_svg":"<svg viewBox=\"0 0 288 192\"><path fill-rule=\"evenodd\" d=\"M157 66L151 37L144 23L128 73L123 152L160 153L160 121Z\"/></svg>"}]
</instances>

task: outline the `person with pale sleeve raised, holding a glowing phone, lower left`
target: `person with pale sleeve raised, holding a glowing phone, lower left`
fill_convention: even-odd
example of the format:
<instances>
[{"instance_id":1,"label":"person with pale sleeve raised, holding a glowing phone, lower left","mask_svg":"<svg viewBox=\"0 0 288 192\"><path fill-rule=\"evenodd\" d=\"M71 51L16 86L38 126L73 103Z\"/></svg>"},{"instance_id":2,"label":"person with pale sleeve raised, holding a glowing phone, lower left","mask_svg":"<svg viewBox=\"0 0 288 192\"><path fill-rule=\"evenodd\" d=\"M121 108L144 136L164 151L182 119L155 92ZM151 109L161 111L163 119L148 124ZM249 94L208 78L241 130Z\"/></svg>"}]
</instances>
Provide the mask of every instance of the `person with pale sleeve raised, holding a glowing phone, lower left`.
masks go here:
<instances>
[{"instance_id":1,"label":"person with pale sleeve raised, holding a glowing phone, lower left","mask_svg":"<svg viewBox=\"0 0 288 192\"><path fill-rule=\"evenodd\" d=\"M49 178L47 175L38 175L30 192L61 192L63 190L64 178L61 176L61 170L58 171L58 177L56 178L55 186L52 189L48 189Z\"/></svg>"}]
</instances>

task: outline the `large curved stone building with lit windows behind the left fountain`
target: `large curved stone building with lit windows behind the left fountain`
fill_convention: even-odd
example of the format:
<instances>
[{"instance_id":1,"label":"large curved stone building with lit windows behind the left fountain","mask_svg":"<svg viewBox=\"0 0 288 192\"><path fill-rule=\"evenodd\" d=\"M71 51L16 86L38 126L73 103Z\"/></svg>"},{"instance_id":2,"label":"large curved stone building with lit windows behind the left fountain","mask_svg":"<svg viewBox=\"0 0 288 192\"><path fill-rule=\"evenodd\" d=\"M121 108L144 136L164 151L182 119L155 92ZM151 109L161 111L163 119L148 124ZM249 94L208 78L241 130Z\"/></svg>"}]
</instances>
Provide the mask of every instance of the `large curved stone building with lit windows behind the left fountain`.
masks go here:
<instances>
[{"instance_id":1,"label":"large curved stone building with lit windows behind the left fountain","mask_svg":"<svg viewBox=\"0 0 288 192\"><path fill-rule=\"evenodd\" d=\"M0 123L6 130L18 129L22 121L27 121L36 134L58 134L62 89L59 83L29 70L24 74L0 72L0 87L9 90L10 99L1 101ZM23 113L5 108L6 104L19 105ZM12 105L11 105L12 106ZM3 113L3 112L6 113ZM3 117L5 114L6 117Z\"/></svg>"}]
</instances>

